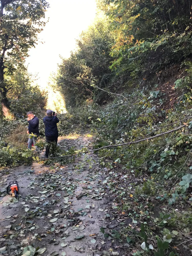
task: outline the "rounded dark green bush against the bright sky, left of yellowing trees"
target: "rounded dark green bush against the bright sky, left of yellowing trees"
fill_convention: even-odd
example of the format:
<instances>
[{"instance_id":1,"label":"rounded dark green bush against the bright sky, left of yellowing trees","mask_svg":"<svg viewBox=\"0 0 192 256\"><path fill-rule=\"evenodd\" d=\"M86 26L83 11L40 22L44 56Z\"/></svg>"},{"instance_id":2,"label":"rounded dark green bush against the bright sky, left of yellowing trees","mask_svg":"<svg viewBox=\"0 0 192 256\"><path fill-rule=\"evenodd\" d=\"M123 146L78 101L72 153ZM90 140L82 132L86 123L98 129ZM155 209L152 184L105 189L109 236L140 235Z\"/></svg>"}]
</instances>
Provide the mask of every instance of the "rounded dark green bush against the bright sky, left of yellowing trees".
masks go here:
<instances>
[{"instance_id":1,"label":"rounded dark green bush against the bright sky, left of yellowing trees","mask_svg":"<svg viewBox=\"0 0 192 256\"><path fill-rule=\"evenodd\" d=\"M67 108L93 99L103 103L107 94L101 94L94 86L107 88L114 76L109 70L113 60L110 56L113 41L114 35L107 20L102 20L83 32L77 41L78 50L71 53L69 59L62 60L57 84L65 97Z\"/></svg>"}]
</instances>

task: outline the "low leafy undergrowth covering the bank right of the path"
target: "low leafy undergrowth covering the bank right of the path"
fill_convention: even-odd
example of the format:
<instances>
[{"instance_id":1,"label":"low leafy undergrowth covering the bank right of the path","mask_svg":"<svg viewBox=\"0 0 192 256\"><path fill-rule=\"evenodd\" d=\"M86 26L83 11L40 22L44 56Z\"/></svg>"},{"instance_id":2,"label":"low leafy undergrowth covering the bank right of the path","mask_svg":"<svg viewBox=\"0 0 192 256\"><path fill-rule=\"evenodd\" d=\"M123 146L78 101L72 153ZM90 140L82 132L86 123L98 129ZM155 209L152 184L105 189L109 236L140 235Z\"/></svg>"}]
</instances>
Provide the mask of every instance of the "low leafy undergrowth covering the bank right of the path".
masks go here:
<instances>
[{"instance_id":1,"label":"low leafy undergrowth covering the bank right of the path","mask_svg":"<svg viewBox=\"0 0 192 256\"><path fill-rule=\"evenodd\" d=\"M70 127L76 132L90 127L95 149L149 138L98 151L100 165L108 170L104 184L111 196L115 195L112 208L138 223L137 228L122 226L118 231L101 232L137 248L132 255L154 255L154 248L156 256L180 255L177 246L183 239L190 251L192 63L185 64L187 76L176 79L172 88L174 103L168 103L167 93L155 85L124 93L126 99L116 99L110 105L84 105L74 112L70 109L63 119L61 116L64 133Z\"/></svg>"}]
</instances>

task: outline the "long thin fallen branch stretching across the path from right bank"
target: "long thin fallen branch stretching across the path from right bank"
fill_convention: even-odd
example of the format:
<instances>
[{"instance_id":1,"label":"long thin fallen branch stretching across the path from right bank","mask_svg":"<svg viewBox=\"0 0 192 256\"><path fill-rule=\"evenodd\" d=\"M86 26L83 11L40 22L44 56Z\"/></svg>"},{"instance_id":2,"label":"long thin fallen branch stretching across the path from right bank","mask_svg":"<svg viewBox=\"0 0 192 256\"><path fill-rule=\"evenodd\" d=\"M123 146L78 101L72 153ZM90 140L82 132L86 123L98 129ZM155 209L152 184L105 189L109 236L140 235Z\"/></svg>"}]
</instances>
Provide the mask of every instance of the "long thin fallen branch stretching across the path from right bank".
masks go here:
<instances>
[{"instance_id":1,"label":"long thin fallen branch stretching across the path from right bank","mask_svg":"<svg viewBox=\"0 0 192 256\"><path fill-rule=\"evenodd\" d=\"M95 148L95 149L92 149L92 150L88 150L88 151L85 151L85 152L80 152L80 153L76 153L76 154L72 154L72 155L56 156L56 157L51 157L51 158L44 158L44 160L53 159L53 158L59 158L59 157L75 156L75 155L78 155L78 154L86 154L86 153L89 153L89 152L99 151L99 150L104 149L104 148L120 147L120 146L124 146L124 145L136 144L136 143L139 143L139 142L142 142L142 141L152 140L152 139L157 138L157 137L159 137L159 136L162 136L162 135L164 135L164 134L168 134L168 133L172 133L172 132L178 131L178 130L184 128L184 127L185 127L185 124L184 124L184 125L181 125L181 126L179 126L179 127L177 127L177 128L175 128L175 129L173 129L173 130L169 130L169 131L167 131L167 132L163 132L163 133L154 135L154 136L152 136L152 137L144 138L144 139L142 139L142 140L131 141L131 142L122 143L122 144L108 145L108 146L104 146L104 147L100 147L100 148Z\"/></svg>"}]
</instances>

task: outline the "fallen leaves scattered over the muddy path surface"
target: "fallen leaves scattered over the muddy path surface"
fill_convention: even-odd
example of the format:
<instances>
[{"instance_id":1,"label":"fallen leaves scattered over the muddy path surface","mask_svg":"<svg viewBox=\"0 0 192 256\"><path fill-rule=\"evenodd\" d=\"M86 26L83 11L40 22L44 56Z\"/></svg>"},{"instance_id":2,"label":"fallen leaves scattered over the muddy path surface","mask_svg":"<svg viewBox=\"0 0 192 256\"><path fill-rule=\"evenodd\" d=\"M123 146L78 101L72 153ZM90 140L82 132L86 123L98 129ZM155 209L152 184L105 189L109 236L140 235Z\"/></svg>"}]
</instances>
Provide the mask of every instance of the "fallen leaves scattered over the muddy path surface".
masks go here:
<instances>
[{"instance_id":1,"label":"fallen leaves scattered over the muddy path surface","mask_svg":"<svg viewBox=\"0 0 192 256\"><path fill-rule=\"evenodd\" d=\"M80 137L70 143L78 148L84 141L85 137ZM1 200L0 206L4 204L7 210L16 204L18 207L15 208L15 217L3 216L7 222L0 237L0 252L2 248L7 252L8 241L12 255L24 256L47 251L51 256L73 255L73 252L123 255L127 248L133 248L135 240L122 232L122 228L140 232L138 220L141 213L133 201L131 185L128 185L127 196L124 193L124 201L130 200L127 210L121 211L123 202L118 200L118 195L125 192L124 185L131 183L130 177L117 171L108 172L98 164L92 169L80 167L77 162L52 163L49 167L37 165L35 171L42 169L38 175L35 172L30 175L29 172L15 172L14 178L27 176L28 185L22 188L23 193L21 189L17 201ZM8 225L9 221L15 222ZM65 252L59 252L62 248Z\"/></svg>"}]
</instances>

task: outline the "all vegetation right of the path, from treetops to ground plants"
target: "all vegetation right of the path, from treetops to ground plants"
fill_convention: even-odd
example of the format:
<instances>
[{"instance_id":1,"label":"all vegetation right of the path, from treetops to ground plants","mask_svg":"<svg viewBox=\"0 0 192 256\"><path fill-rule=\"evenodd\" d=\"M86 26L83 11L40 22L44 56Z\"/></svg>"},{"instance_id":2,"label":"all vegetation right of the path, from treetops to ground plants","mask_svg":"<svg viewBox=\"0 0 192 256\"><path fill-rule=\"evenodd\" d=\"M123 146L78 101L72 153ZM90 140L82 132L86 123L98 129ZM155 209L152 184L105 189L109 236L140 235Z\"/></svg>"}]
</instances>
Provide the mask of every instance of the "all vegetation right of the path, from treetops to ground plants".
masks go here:
<instances>
[{"instance_id":1,"label":"all vegetation right of the path, from treetops to ground plants","mask_svg":"<svg viewBox=\"0 0 192 256\"><path fill-rule=\"evenodd\" d=\"M104 18L81 34L57 80L69 121L89 125L102 148L103 183L121 223L101 232L132 255L190 255L191 4L98 4Z\"/></svg>"}]
</instances>

